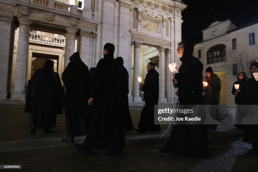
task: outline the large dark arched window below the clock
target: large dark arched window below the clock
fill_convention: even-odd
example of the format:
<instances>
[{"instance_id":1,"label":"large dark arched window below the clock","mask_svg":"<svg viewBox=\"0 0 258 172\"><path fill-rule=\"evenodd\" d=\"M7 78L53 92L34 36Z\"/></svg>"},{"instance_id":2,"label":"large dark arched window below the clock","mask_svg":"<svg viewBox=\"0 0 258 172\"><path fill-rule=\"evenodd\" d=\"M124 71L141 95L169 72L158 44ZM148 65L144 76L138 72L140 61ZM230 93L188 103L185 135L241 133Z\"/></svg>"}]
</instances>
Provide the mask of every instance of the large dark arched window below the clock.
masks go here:
<instances>
[{"instance_id":1,"label":"large dark arched window below the clock","mask_svg":"<svg viewBox=\"0 0 258 172\"><path fill-rule=\"evenodd\" d=\"M226 46L216 45L207 51L207 64L226 61Z\"/></svg>"}]
</instances>

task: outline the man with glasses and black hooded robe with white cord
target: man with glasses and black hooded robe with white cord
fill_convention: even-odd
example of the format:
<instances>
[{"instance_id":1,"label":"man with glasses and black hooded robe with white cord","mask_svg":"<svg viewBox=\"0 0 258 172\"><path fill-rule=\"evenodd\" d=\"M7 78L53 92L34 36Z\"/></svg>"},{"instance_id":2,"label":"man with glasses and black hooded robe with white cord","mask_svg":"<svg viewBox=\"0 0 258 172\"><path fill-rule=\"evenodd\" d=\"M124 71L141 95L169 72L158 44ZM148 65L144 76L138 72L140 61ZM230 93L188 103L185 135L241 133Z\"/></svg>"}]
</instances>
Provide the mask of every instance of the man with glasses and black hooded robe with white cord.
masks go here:
<instances>
[{"instance_id":1,"label":"man with glasses and black hooded robe with white cord","mask_svg":"<svg viewBox=\"0 0 258 172\"><path fill-rule=\"evenodd\" d=\"M195 45L189 42L178 44L178 56L182 65L179 73L173 73L178 87L179 105L204 104L202 93L203 64L192 56ZM181 156L201 156L208 152L207 125L174 125L170 138L161 152Z\"/></svg>"}]
</instances>

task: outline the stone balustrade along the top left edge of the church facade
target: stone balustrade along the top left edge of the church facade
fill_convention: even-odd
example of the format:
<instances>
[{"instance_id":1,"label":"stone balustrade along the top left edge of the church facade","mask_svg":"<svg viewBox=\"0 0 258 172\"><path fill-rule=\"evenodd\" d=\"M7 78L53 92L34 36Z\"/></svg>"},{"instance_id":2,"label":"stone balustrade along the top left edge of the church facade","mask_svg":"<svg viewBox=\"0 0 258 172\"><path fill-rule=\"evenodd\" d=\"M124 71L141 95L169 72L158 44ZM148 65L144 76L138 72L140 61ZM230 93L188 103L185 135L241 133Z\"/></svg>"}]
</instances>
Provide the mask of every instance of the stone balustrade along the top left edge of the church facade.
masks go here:
<instances>
[{"instance_id":1,"label":"stone balustrade along the top left edge of the church facade","mask_svg":"<svg viewBox=\"0 0 258 172\"><path fill-rule=\"evenodd\" d=\"M77 14L78 6L69 5L58 1L53 0L29 0L30 3L46 6L52 9L62 10L70 12L72 14Z\"/></svg>"}]
</instances>

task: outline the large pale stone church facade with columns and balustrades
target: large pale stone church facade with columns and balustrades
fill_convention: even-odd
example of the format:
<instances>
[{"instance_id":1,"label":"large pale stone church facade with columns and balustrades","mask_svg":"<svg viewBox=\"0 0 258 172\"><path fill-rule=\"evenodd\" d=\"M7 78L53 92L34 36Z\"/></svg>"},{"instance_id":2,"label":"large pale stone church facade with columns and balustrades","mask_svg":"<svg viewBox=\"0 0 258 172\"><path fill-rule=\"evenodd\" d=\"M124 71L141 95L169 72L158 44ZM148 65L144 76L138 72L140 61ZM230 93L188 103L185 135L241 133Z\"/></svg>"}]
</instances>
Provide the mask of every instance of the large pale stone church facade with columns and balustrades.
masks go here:
<instances>
[{"instance_id":1,"label":"large pale stone church facade with columns and balustrades","mask_svg":"<svg viewBox=\"0 0 258 172\"><path fill-rule=\"evenodd\" d=\"M180 0L85 0L82 9L78 0L0 0L0 5L0 100L23 101L33 69L45 59L55 61L60 78L76 51L95 67L109 42L132 76L129 102L142 101L137 77L144 81L149 61L160 74L159 101L176 102L167 66L180 62L175 50L186 8Z\"/></svg>"}]
</instances>

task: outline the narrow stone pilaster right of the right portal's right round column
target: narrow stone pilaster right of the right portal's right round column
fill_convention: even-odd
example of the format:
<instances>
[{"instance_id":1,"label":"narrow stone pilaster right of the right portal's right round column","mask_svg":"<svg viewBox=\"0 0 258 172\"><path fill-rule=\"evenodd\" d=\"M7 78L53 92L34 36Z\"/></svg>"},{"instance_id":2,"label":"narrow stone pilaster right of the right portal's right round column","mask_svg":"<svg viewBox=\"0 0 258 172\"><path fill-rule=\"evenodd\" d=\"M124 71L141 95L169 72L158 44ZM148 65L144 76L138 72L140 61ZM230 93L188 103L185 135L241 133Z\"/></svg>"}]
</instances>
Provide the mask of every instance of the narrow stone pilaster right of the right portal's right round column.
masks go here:
<instances>
[{"instance_id":1,"label":"narrow stone pilaster right of the right portal's right round column","mask_svg":"<svg viewBox=\"0 0 258 172\"><path fill-rule=\"evenodd\" d=\"M170 69L168 68L168 64L172 63L170 62L170 54L171 54L171 49L170 48L167 48L165 50L165 54L166 54L166 63L165 63L165 73L166 73L166 79L165 79L165 88L166 88L166 97L167 97L167 100L168 102L171 102L171 95L170 95L170 88L173 87L173 84L171 82L171 76L173 77Z\"/></svg>"}]
</instances>

